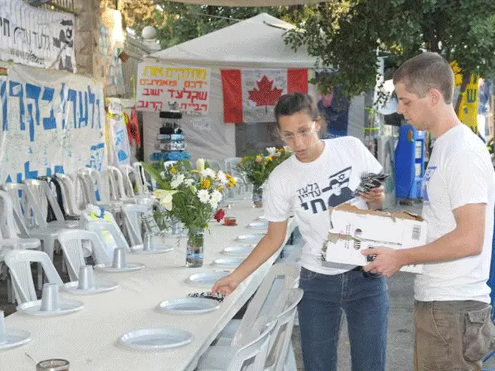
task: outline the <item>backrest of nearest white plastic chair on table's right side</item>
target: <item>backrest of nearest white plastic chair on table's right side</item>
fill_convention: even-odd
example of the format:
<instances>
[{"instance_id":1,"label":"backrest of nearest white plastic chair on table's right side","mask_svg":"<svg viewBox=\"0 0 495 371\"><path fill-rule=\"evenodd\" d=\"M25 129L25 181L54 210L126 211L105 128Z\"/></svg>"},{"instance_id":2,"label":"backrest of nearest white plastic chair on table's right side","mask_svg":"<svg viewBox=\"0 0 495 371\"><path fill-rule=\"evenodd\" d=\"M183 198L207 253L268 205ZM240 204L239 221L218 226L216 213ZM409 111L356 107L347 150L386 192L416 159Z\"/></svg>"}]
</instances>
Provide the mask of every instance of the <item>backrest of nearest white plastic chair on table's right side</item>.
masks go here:
<instances>
[{"instance_id":1,"label":"backrest of nearest white plastic chair on table's right side","mask_svg":"<svg viewBox=\"0 0 495 371\"><path fill-rule=\"evenodd\" d=\"M243 371L249 365L250 371L263 371L267 359L270 339L274 333L276 319L273 317L260 317L252 326L262 328L261 333L245 346L235 352L230 360L227 371Z\"/></svg>"}]
</instances>

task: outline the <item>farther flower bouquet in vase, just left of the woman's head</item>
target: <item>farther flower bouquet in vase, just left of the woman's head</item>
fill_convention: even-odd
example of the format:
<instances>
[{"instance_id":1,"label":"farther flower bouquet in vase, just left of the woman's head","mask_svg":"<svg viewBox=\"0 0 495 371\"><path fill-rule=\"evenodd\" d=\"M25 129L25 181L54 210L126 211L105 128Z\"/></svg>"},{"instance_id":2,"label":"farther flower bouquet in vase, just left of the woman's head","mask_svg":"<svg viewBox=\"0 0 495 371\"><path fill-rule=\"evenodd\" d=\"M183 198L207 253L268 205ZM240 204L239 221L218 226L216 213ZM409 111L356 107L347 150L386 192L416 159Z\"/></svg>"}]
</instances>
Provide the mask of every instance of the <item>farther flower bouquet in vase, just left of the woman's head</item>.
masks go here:
<instances>
[{"instance_id":1,"label":"farther flower bouquet in vase, just left of the woman's head","mask_svg":"<svg viewBox=\"0 0 495 371\"><path fill-rule=\"evenodd\" d=\"M253 203L255 207L263 207L263 183L270 173L283 161L291 157L292 152L287 147L266 148L268 155L243 157L237 168L253 185Z\"/></svg>"}]
</instances>

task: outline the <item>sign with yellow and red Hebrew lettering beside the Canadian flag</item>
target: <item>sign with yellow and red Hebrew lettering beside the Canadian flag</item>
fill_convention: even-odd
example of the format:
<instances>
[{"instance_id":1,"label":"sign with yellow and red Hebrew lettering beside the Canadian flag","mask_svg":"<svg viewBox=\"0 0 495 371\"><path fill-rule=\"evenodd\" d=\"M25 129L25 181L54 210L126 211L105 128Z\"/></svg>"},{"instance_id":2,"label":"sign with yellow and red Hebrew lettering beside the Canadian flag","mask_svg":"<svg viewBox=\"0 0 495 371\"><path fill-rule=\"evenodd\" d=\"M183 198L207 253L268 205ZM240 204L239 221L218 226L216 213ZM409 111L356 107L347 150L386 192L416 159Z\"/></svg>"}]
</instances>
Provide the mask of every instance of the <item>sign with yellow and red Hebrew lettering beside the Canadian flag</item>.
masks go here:
<instances>
[{"instance_id":1,"label":"sign with yellow and red Hebrew lettering beside the Canadian flag","mask_svg":"<svg viewBox=\"0 0 495 371\"><path fill-rule=\"evenodd\" d=\"M140 63L137 68L137 109L179 110L206 115L210 102L210 69Z\"/></svg>"}]
</instances>

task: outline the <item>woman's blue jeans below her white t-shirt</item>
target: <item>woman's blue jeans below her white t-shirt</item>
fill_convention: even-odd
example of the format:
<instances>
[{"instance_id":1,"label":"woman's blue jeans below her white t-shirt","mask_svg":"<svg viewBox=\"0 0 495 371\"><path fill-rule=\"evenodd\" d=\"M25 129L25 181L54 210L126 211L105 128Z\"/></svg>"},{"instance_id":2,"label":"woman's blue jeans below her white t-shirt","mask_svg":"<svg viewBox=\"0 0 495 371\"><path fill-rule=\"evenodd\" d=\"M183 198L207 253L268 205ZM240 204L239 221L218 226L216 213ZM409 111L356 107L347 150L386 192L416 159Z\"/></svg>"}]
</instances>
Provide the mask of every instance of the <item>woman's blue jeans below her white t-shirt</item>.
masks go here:
<instances>
[{"instance_id":1,"label":"woman's blue jeans below her white t-shirt","mask_svg":"<svg viewBox=\"0 0 495 371\"><path fill-rule=\"evenodd\" d=\"M301 269L299 313L305 371L337 371L342 311L353 371L384 371L388 292L384 276L353 270L329 276Z\"/></svg>"}]
</instances>

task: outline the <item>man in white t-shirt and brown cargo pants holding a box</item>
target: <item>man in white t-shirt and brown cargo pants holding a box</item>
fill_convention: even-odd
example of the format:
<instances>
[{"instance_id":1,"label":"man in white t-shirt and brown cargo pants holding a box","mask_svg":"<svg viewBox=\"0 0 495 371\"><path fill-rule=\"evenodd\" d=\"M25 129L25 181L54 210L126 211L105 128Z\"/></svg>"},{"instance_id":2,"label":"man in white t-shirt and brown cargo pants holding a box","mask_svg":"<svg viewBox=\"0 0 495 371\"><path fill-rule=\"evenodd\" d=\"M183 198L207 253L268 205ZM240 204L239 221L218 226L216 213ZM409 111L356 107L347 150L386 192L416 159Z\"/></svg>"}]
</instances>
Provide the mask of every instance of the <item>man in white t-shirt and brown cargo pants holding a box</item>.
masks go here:
<instances>
[{"instance_id":1,"label":"man in white t-shirt and brown cargo pants holding a box","mask_svg":"<svg viewBox=\"0 0 495 371\"><path fill-rule=\"evenodd\" d=\"M454 74L445 59L415 56L397 69L394 84L397 112L435 139L423 178L428 244L364 251L377 256L364 269L391 276L402 265L424 263L415 281L415 370L481 370L490 335L492 161L456 116Z\"/></svg>"}]
</instances>

